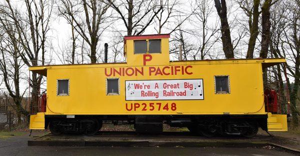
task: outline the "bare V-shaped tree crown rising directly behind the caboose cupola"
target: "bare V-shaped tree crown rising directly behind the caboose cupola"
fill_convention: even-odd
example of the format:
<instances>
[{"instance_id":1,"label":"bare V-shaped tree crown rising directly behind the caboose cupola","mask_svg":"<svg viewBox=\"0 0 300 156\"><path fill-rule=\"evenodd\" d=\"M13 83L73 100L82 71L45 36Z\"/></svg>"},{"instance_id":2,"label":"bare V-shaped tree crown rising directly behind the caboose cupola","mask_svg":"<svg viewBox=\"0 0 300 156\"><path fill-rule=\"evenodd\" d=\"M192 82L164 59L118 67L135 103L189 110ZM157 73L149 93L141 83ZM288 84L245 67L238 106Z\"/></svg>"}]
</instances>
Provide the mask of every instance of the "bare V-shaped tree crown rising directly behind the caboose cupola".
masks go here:
<instances>
[{"instance_id":1,"label":"bare V-shaped tree crown rising directly behind the caboose cupola","mask_svg":"<svg viewBox=\"0 0 300 156\"><path fill-rule=\"evenodd\" d=\"M107 0L117 12L127 31L127 35L139 35L153 22L162 9L159 0ZM125 11L123 11L125 10Z\"/></svg>"}]
</instances>

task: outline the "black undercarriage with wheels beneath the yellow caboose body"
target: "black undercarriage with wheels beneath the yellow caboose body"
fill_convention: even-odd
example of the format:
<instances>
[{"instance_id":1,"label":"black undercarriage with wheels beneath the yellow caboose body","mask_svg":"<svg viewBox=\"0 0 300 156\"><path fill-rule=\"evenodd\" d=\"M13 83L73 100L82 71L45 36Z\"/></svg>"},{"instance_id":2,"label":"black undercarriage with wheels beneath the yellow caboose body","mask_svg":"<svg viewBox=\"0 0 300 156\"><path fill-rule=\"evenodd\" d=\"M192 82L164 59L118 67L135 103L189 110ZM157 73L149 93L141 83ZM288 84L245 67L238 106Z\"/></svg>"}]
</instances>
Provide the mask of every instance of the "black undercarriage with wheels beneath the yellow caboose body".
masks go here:
<instances>
[{"instance_id":1,"label":"black undercarriage with wheels beneath the yellow caboose body","mask_svg":"<svg viewBox=\"0 0 300 156\"><path fill-rule=\"evenodd\" d=\"M191 133L205 137L241 135L253 137L258 127L267 130L267 115L48 115L45 128L54 135L61 133L94 135L102 123L131 124L138 133L159 133L163 124L186 127Z\"/></svg>"}]
</instances>

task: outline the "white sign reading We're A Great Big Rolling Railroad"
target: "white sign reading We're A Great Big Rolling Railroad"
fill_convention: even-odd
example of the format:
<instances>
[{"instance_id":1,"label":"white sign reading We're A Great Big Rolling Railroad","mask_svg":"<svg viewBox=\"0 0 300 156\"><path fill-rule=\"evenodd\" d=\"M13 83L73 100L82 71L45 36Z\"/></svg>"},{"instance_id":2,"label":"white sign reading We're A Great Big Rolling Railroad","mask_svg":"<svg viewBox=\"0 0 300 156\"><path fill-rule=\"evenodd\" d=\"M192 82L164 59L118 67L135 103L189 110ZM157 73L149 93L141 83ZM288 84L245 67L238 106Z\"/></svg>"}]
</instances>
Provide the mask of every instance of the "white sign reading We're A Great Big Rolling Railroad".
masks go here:
<instances>
[{"instance_id":1,"label":"white sign reading We're A Great Big Rolling Railroad","mask_svg":"<svg viewBox=\"0 0 300 156\"><path fill-rule=\"evenodd\" d=\"M126 100L203 100L203 79L125 81Z\"/></svg>"}]
</instances>

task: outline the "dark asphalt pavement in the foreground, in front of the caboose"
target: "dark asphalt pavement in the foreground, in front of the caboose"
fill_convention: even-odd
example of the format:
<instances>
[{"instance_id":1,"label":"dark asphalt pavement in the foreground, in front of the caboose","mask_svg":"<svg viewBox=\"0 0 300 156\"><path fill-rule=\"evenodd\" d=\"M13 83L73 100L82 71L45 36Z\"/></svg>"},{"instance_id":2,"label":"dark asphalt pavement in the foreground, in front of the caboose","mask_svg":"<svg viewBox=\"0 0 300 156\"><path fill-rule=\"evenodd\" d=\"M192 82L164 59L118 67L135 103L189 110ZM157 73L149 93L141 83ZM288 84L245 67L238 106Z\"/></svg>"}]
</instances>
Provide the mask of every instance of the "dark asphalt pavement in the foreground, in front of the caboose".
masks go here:
<instances>
[{"instance_id":1,"label":"dark asphalt pavement in the foreground, in front of the caboose","mask_svg":"<svg viewBox=\"0 0 300 156\"><path fill-rule=\"evenodd\" d=\"M294 156L264 148L28 147L29 139L24 135L0 140L0 156Z\"/></svg>"}]
</instances>

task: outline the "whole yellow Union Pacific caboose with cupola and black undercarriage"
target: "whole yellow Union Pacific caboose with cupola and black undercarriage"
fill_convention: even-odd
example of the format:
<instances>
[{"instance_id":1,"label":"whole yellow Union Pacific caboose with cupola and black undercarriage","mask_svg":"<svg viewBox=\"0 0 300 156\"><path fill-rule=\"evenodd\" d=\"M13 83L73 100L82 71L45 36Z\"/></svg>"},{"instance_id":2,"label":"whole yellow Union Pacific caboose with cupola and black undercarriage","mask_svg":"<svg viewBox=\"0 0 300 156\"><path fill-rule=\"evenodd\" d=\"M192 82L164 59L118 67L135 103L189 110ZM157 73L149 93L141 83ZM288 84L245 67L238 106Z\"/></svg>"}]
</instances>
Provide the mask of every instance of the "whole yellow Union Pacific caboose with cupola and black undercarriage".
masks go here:
<instances>
[{"instance_id":1,"label":"whole yellow Union Pacific caboose with cupola and black undercarriage","mask_svg":"<svg viewBox=\"0 0 300 156\"><path fill-rule=\"evenodd\" d=\"M30 116L30 129L91 135L112 122L207 137L287 131L286 115L266 111L262 81L262 69L284 59L170 61L168 38L125 36L125 63L30 67L47 77L46 111Z\"/></svg>"}]
</instances>

